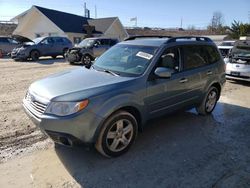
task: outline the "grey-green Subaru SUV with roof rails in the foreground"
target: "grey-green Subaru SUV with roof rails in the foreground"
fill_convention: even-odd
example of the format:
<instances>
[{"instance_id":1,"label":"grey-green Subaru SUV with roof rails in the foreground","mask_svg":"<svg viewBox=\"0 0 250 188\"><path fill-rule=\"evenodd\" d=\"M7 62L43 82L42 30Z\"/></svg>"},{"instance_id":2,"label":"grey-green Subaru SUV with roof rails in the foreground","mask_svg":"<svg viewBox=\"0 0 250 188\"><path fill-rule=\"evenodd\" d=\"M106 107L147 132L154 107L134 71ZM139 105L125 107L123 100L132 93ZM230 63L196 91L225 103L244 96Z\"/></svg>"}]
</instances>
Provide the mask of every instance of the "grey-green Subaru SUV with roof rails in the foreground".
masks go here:
<instances>
[{"instance_id":1,"label":"grey-green Subaru SUV with roof rails in the foreground","mask_svg":"<svg viewBox=\"0 0 250 188\"><path fill-rule=\"evenodd\" d=\"M149 119L193 107L212 113L225 63L211 39L137 38L113 46L91 67L34 82L23 99L28 116L57 143L94 144L115 157Z\"/></svg>"}]
</instances>

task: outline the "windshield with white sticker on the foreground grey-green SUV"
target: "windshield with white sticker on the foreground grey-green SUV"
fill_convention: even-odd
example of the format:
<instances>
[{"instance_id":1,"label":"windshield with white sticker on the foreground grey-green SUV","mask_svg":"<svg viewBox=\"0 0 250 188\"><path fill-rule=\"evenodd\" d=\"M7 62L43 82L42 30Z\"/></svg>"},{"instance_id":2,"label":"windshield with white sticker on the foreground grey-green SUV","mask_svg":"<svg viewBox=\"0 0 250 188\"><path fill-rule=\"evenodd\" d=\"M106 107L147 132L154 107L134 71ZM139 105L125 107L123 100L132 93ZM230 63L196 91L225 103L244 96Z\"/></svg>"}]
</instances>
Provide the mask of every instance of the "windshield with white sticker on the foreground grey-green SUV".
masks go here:
<instances>
[{"instance_id":1,"label":"windshield with white sticker on the foreground grey-green SUV","mask_svg":"<svg viewBox=\"0 0 250 188\"><path fill-rule=\"evenodd\" d=\"M156 47L118 44L100 56L93 66L119 75L138 76L146 70L156 50Z\"/></svg>"}]
</instances>

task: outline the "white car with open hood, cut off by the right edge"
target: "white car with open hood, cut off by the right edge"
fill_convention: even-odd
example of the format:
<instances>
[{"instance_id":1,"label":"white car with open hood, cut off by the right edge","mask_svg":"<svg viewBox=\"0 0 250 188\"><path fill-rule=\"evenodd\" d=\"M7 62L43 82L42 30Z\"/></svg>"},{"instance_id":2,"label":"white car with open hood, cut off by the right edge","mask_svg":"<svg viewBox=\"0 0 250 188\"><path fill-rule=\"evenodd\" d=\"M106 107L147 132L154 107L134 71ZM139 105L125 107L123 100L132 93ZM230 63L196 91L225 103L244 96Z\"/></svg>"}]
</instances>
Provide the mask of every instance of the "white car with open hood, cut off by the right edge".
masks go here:
<instances>
[{"instance_id":1,"label":"white car with open hood, cut off by the right edge","mask_svg":"<svg viewBox=\"0 0 250 188\"><path fill-rule=\"evenodd\" d=\"M226 64L226 78L250 81L250 40L238 40Z\"/></svg>"}]
</instances>

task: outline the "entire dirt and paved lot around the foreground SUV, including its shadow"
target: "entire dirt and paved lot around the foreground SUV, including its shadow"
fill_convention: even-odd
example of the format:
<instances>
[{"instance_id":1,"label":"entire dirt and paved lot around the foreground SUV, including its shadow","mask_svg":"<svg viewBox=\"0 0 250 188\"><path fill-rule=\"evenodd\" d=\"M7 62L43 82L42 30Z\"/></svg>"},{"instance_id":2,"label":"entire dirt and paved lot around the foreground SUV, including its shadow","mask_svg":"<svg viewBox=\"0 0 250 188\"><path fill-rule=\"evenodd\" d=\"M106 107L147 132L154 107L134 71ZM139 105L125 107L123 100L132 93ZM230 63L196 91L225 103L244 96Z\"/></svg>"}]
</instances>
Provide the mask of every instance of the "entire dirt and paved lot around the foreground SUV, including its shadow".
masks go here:
<instances>
[{"instance_id":1,"label":"entire dirt and paved lot around the foreground SUV, including its shadow","mask_svg":"<svg viewBox=\"0 0 250 188\"><path fill-rule=\"evenodd\" d=\"M71 67L0 59L0 187L250 187L250 84L227 82L211 116L149 122L127 154L105 159L54 147L22 110L34 80Z\"/></svg>"}]
</instances>

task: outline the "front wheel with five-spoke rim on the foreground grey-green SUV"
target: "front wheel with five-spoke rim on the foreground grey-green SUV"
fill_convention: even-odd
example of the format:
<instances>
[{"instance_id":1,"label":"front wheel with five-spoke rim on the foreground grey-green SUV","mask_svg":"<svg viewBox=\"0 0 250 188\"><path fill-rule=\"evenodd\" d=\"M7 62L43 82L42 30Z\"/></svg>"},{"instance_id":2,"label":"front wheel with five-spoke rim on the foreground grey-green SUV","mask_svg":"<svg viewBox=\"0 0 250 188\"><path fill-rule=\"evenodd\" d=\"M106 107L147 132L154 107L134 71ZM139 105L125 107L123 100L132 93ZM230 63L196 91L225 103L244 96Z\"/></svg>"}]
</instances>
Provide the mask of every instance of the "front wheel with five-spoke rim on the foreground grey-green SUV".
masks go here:
<instances>
[{"instance_id":1,"label":"front wheel with five-spoke rim on the foreground grey-green SUV","mask_svg":"<svg viewBox=\"0 0 250 188\"><path fill-rule=\"evenodd\" d=\"M104 122L95 147L105 157L118 157L129 150L137 132L135 117L126 111L118 111Z\"/></svg>"}]
</instances>

